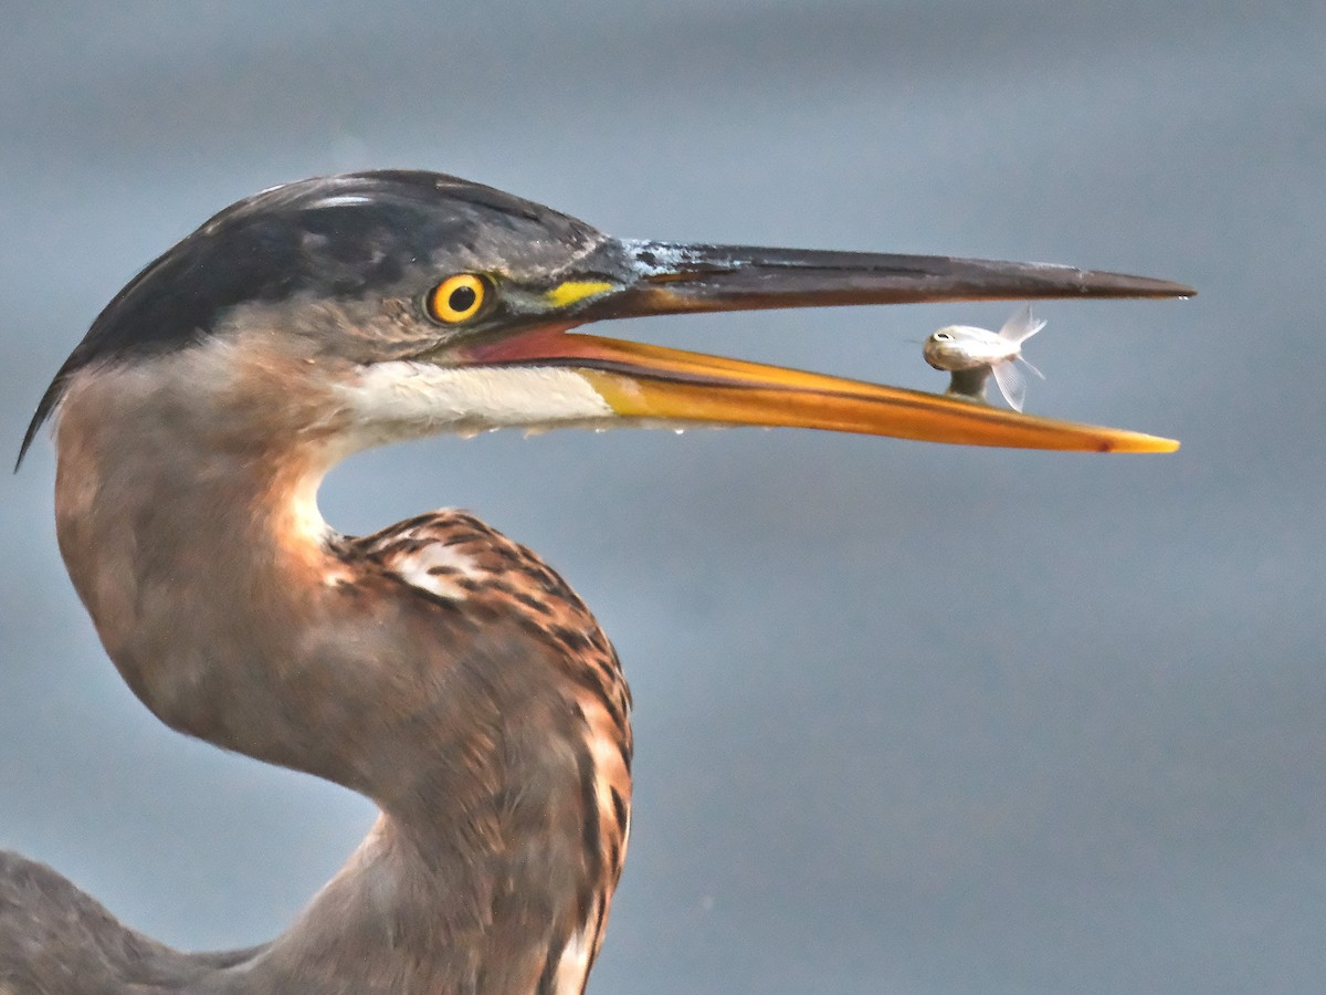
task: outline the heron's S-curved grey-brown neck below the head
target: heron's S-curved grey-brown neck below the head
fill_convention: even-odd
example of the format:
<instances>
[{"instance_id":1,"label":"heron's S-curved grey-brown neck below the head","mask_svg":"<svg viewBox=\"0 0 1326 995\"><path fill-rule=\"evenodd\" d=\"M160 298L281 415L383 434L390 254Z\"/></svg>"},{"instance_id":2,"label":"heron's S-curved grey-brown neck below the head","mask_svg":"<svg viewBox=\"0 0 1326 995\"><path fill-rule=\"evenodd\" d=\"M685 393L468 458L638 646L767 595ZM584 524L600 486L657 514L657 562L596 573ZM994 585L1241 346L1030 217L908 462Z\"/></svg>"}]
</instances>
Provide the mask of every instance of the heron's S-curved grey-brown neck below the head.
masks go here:
<instances>
[{"instance_id":1,"label":"heron's S-curved grey-brown neck below the head","mask_svg":"<svg viewBox=\"0 0 1326 995\"><path fill-rule=\"evenodd\" d=\"M625 846L599 820L615 805L625 833L629 775L609 801L565 639L355 560L313 503L328 440L217 436L133 386L73 383L58 427L60 545L107 653L171 727L385 812L216 990L579 992Z\"/></svg>"}]
</instances>

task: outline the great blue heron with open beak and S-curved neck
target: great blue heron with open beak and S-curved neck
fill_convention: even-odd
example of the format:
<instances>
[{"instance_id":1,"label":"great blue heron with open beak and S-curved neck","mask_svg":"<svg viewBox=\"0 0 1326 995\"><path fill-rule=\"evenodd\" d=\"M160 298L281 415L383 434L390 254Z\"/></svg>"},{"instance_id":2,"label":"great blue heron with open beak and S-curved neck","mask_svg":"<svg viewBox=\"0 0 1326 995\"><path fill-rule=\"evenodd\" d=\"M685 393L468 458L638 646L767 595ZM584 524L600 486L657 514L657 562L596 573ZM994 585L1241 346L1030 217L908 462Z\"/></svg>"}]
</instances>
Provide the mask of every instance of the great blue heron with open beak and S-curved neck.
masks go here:
<instances>
[{"instance_id":1,"label":"great blue heron with open beak and S-curved neck","mask_svg":"<svg viewBox=\"0 0 1326 995\"><path fill-rule=\"evenodd\" d=\"M788 425L1164 451L1150 435L572 334L599 318L1188 288L1063 267L623 241L432 172L239 202L115 296L46 390L60 549L159 719L373 799L290 929L184 954L0 857L0 991L581 992L630 827L630 695L585 605L455 511L367 537L349 454L504 426ZM21 452L20 452L21 459Z\"/></svg>"}]
</instances>

